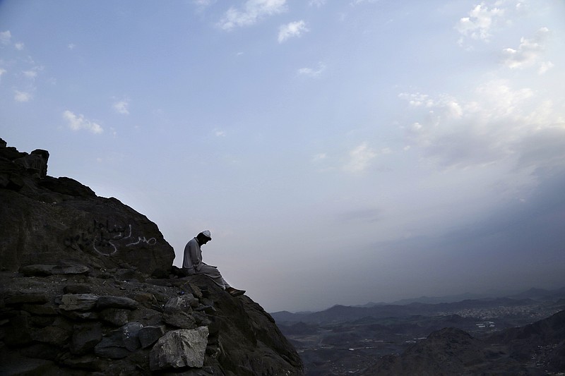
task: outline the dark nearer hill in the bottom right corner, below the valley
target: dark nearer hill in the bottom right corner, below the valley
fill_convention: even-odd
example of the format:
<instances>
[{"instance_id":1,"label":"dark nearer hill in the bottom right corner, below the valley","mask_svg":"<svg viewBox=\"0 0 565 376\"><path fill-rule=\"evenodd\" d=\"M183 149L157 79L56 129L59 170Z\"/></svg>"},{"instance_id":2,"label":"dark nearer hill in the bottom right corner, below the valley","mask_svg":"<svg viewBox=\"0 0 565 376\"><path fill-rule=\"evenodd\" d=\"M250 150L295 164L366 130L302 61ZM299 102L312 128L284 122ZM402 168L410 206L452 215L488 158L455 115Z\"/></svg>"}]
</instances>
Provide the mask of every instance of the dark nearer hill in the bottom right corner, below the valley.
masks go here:
<instances>
[{"instance_id":1,"label":"dark nearer hill in the bottom right corner, below the valley","mask_svg":"<svg viewBox=\"0 0 565 376\"><path fill-rule=\"evenodd\" d=\"M455 328L429 334L356 375L562 375L565 311L477 339Z\"/></svg>"}]
</instances>

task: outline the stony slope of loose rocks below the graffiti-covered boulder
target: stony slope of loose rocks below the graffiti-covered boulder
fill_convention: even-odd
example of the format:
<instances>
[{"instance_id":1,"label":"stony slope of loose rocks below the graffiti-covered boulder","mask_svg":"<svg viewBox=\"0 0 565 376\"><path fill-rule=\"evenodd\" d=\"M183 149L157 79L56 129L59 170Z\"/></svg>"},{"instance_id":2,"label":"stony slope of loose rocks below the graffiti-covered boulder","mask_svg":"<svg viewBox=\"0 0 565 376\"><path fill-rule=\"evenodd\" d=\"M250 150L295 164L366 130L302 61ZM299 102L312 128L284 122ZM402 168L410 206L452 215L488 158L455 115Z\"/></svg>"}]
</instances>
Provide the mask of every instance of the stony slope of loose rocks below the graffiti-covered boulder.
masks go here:
<instances>
[{"instance_id":1,"label":"stony slope of loose rocks below the graffiti-covered boulder","mask_svg":"<svg viewBox=\"0 0 565 376\"><path fill-rule=\"evenodd\" d=\"M170 277L83 265L0 273L0 374L302 374L251 299Z\"/></svg>"}]
</instances>

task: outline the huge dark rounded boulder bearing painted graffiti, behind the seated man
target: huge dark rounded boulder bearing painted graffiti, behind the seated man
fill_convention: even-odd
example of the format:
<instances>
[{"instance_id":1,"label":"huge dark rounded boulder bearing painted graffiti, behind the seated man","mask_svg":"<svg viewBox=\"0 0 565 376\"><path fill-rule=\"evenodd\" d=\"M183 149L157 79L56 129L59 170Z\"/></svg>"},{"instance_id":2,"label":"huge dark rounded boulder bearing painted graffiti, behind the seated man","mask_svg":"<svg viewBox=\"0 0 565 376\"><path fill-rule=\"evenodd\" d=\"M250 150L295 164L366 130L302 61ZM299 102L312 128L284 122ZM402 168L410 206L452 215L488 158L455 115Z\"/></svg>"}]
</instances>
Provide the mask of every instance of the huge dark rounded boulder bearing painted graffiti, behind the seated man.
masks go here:
<instances>
[{"instance_id":1,"label":"huge dark rounded boulder bearing painted graffiti, behind the seated man","mask_svg":"<svg viewBox=\"0 0 565 376\"><path fill-rule=\"evenodd\" d=\"M146 274L171 268L174 250L143 214L115 198L97 197L71 178L47 176L46 150L27 154L1 145L0 265L4 270L28 265L70 267L77 262L98 269L126 264ZM65 274L56 269L52 273Z\"/></svg>"}]
</instances>

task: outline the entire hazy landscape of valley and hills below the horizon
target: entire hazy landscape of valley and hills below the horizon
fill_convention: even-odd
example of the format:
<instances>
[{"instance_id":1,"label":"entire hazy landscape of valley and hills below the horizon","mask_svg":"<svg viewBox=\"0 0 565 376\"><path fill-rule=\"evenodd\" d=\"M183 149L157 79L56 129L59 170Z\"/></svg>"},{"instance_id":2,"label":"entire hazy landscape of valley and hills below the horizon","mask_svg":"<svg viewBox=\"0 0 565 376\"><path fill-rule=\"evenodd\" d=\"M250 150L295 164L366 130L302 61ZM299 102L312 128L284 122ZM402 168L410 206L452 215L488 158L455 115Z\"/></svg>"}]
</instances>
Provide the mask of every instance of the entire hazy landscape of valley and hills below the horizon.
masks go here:
<instances>
[{"instance_id":1,"label":"entire hazy landscape of valley and hills below the horizon","mask_svg":"<svg viewBox=\"0 0 565 376\"><path fill-rule=\"evenodd\" d=\"M565 288L271 316L297 348L306 376L565 371Z\"/></svg>"}]
</instances>

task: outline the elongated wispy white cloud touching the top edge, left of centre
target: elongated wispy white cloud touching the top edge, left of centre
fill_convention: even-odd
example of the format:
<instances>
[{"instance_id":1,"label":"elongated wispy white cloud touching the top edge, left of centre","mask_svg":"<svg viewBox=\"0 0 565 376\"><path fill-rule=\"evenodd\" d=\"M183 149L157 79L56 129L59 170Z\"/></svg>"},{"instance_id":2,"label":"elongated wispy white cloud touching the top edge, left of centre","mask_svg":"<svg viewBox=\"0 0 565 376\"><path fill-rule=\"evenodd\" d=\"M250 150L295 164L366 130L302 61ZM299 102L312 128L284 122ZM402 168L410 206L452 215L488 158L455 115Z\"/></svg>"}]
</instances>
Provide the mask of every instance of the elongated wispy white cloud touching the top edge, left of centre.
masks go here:
<instances>
[{"instance_id":1,"label":"elongated wispy white cloud touching the top edge, left of centre","mask_svg":"<svg viewBox=\"0 0 565 376\"><path fill-rule=\"evenodd\" d=\"M223 30L232 30L253 25L261 18L286 10L286 0L247 0L242 11L233 7L228 9L218 26Z\"/></svg>"}]
</instances>

